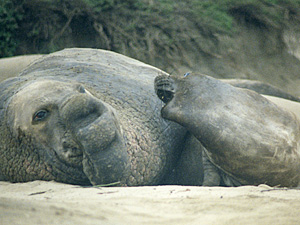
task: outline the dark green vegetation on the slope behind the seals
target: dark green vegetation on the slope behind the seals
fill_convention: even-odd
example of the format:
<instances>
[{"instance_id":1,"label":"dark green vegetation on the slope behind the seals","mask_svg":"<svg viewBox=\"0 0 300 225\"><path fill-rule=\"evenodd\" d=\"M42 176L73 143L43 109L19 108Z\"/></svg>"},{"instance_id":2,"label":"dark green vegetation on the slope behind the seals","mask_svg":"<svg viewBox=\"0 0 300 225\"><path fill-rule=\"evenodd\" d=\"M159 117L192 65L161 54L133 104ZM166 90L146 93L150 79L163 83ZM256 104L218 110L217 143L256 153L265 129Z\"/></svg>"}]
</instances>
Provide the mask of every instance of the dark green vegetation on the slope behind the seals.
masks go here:
<instances>
[{"instance_id":1,"label":"dark green vegetation on the slope behind the seals","mask_svg":"<svg viewBox=\"0 0 300 225\"><path fill-rule=\"evenodd\" d=\"M230 35L237 20L280 29L299 9L300 0L1 0L0 57L76 46L167 63L199 36Z\"/></svg>"}]
</instances>

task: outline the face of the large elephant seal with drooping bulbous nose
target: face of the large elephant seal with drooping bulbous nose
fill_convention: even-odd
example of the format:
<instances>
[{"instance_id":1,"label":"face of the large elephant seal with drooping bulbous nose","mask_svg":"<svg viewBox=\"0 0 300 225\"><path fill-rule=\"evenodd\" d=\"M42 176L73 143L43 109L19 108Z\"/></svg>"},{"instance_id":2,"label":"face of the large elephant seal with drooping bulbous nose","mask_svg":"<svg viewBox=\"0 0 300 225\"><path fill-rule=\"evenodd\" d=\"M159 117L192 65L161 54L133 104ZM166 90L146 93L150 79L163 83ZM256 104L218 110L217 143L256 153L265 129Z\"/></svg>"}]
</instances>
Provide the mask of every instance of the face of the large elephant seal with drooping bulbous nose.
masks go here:
<instances>
[{"instance_id":1,"label":"face of the large elephant seal with drooping bulbous nose","mask_svg":"<svg viewBox=\"0 0 300 225\"><path fill-rule=\"evenodd\" d=\"M37 179L41 173L40 179L67 183L122 183L128 159L115 110L82 85L24 82L5 110L13 145L28 155L21 166L27 178L16 174L10 176L13 181L30 180L30 174ZM29 159L32 151L38 158Z\"/></svg>"}]
</instances>

